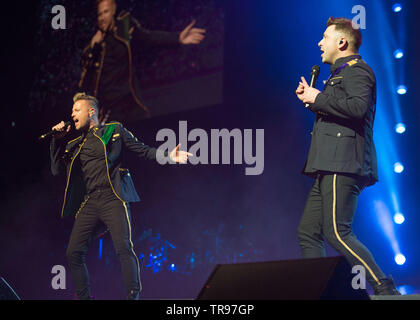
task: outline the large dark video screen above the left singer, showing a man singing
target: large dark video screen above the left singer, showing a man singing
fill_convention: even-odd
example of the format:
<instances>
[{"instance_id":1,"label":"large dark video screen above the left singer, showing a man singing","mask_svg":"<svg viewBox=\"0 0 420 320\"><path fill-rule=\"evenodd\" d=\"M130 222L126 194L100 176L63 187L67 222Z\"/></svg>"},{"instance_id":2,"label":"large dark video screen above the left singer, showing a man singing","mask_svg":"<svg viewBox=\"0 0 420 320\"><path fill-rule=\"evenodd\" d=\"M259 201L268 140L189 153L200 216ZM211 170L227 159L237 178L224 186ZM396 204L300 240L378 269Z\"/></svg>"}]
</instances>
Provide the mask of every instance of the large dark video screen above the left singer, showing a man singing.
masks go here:
<instances>
[{"instance_id":1,"label":"large dark video screen above the left singer, showing a man singing","mask_svg":"<svg viewBox=\"0 0 420 320\"><path fill-rule=\"evenodd\" d=\"M224 12L217 0L113 4L40 1L33 111L66 115L76 92L99 99L104 122L222 103Z\"/></svg>"}]
</instances>

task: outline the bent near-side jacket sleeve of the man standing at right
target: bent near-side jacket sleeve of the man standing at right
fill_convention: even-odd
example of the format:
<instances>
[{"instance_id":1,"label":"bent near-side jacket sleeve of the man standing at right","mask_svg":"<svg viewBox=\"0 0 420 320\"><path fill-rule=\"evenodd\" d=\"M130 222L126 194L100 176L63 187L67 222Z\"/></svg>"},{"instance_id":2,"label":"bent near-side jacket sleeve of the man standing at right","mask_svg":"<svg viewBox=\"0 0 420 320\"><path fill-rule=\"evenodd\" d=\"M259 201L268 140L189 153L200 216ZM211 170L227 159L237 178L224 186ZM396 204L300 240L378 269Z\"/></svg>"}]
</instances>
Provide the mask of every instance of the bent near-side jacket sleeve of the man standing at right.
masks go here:
<instances>
[{"instance_id":1,"label":"bent near-side jacket sleeve of the man standing at right","mask_svg":"<svg viewBox=\"0 0 420 320\"><path fill-rule=\"evenodd\" d=\"M311 111L345 119L362 119L374 99L375 80L363 67L354 65L344 77L346 97L321 92L310 106Z\"/></svg>"}]
</instances>

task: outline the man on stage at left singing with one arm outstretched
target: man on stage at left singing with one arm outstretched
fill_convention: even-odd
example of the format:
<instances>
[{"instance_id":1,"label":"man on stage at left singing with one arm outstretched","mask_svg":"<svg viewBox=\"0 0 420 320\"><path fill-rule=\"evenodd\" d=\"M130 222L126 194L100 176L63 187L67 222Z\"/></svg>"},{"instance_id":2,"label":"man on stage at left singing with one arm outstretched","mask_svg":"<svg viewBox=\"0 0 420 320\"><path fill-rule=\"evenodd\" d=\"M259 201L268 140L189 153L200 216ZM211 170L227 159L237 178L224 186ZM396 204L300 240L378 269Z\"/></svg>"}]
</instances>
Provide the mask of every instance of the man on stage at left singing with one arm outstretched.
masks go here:
<instances>
[{"instance_id":1,"label":"man on stage at left singing with one arm outstretched","mask_svg":"<svg viewBox=\"0 0 420 320\"><path fill-rule=\"evenodd\" d=\"M156 160L169 157L172 162L186 163L191 153L169 154L140 142L119 122L100 124L99 102L84 93L73 98L72 120L80 135L64 141L70 126L62 121L52 128L50 157L54 176L66 172L67 185L61 216L75 221L67 247L67 259L79 299L91 299L85 257L97 223L109 229L121 263L127 299L138 299L141 291L139 262L131 240L130 202L140 201L123 154Z\"/></svg>"}]
</instances>

